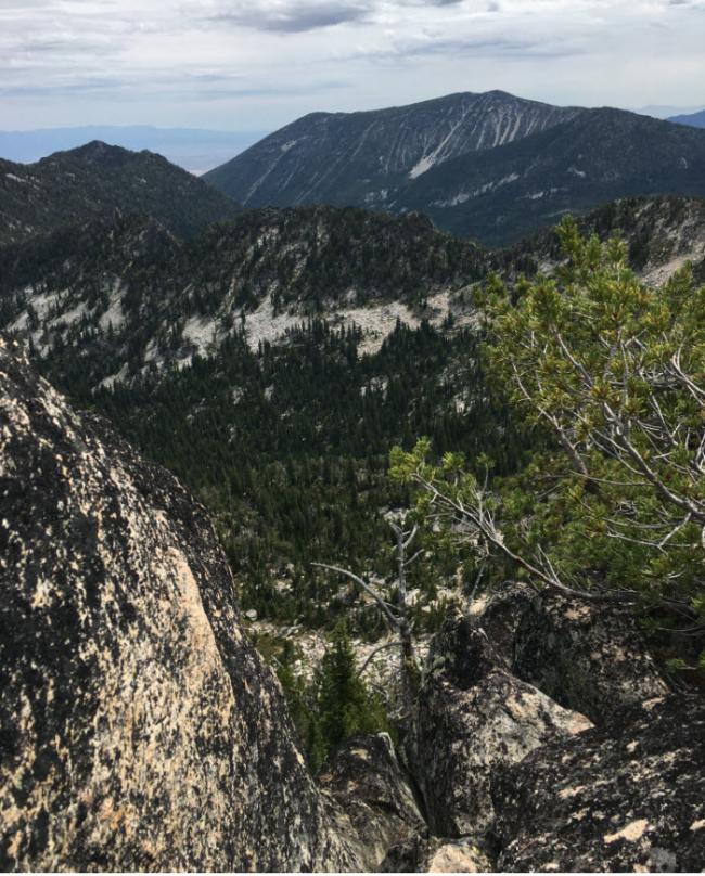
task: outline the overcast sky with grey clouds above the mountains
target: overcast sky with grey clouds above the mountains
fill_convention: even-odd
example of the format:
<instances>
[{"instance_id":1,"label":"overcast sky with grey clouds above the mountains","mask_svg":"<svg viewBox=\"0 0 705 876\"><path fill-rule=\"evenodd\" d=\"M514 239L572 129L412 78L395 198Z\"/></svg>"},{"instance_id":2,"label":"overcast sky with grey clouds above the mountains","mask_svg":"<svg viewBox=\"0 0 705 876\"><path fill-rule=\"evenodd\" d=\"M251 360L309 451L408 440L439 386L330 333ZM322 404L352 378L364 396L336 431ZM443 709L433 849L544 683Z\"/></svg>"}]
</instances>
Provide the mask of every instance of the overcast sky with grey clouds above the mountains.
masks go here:
<instances>
[{"instance_id":1,"label":"overcast sky with grey clouds above the mountains","mask_svg":"<svg viewBox=\"0 0 705 876\"><path fill-rule=\"evenodd\" d=\"M0 128L271 130L503 89L705 106L705 0L0 0Z\"/></svg>"}]
</instances>

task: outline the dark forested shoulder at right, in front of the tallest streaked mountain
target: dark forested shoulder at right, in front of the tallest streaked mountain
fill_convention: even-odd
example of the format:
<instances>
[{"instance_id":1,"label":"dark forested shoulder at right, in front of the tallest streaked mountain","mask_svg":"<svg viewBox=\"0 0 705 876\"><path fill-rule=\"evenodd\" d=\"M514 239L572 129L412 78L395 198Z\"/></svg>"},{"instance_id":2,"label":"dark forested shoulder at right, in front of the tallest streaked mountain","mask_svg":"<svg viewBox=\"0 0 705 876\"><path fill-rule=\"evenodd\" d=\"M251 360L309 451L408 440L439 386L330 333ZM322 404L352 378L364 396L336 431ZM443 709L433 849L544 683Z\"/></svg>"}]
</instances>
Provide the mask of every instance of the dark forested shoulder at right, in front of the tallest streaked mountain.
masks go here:
<instances>
[{"instance_id":1,"label":"dark forested shoulder at right, in front of the tallest streaked mountain","mask_svg":"<svg viewBox=\"0 0 705 876\"><path fill-rule=\"evenodd\" d=\"M619 110L591 110L542 133L460 156L409 183L395 210L503 244L627 195L705 195L705 134Z\"/></svg>"}]
</instances>

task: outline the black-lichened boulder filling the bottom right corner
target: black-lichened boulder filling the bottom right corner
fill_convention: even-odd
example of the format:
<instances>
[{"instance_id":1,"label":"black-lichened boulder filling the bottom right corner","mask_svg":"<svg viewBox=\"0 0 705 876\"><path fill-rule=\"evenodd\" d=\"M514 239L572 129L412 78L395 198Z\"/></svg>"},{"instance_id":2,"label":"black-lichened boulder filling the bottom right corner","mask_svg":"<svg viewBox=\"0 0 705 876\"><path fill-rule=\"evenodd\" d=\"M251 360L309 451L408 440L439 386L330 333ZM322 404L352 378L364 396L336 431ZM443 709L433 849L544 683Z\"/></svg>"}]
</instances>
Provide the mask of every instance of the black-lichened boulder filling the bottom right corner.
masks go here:
<instances>
[{"instance_id":1,"label":"black-lichened boulder filling the bottom right corner","mask_svg":"<svg viewBox=\"0 0 705 876\"><path fill-rule=\"evenodd\" d=\"M498 869L702 872L705 703L627 707L500 771Z\"/></svg>"}]
</instances>

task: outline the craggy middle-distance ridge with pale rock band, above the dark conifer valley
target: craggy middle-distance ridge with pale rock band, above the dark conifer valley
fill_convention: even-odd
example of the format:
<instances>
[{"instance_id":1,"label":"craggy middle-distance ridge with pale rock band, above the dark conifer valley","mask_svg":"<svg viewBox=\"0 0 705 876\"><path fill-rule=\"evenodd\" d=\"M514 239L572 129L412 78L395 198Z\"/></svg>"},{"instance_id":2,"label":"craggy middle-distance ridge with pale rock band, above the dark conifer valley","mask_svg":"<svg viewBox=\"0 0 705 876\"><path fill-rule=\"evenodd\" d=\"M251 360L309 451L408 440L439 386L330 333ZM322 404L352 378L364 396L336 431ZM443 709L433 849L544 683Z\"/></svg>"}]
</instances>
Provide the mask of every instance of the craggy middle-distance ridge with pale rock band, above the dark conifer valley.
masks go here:
<instances>
[{"instance_id":1,"label":"craggy middle-distance ridge with pale rock band, above the dark conifer valley","mask_svg":"<svg viewBox=\"0 0 705 876\"><path fill-rule=\"evenodd\" d=\"M443 320L449 293L485 272L482 249L420 216L252 210L183 243L151 217L118 214L1 249L0 307L38 351L69 362L74 349L95 387L243 330L256 350L313 318L362 324L379 348L397 318Z\"/></svg>"}]
</instances>

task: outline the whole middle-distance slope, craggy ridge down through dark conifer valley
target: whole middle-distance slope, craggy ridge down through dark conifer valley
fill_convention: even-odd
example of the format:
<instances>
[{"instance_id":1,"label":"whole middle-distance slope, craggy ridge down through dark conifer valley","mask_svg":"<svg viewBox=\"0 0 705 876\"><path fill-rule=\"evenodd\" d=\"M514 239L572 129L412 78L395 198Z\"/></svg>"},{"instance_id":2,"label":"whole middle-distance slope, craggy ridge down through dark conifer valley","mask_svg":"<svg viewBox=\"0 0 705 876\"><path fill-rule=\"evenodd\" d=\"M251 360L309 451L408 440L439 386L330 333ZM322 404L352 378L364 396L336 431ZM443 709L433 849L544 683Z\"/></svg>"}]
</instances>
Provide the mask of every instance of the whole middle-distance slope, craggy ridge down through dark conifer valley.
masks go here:
<instances>
[{"instance_id":1,"label":"whole middle-distance slope, craggy ridge down through dark conifer valley","mask_svg":"<svg viewBox=\"0 0 705 876\"><path fill-rule=\"evenodd\" d=\"M646 274L705 245L696 201L628 199L585 224L626 234ZM117 215L0 250L1 324L205 502L246 608L316 627L347 597L311 561L392 568L380 511L409 495L389 447L427 435L509 473L540 440L487 388L476 285L559 258L554 234L489 253L359 209L246 211L188 243ZM412 580L440 579L422 563Z\"/></svg>"}]
</instances>

